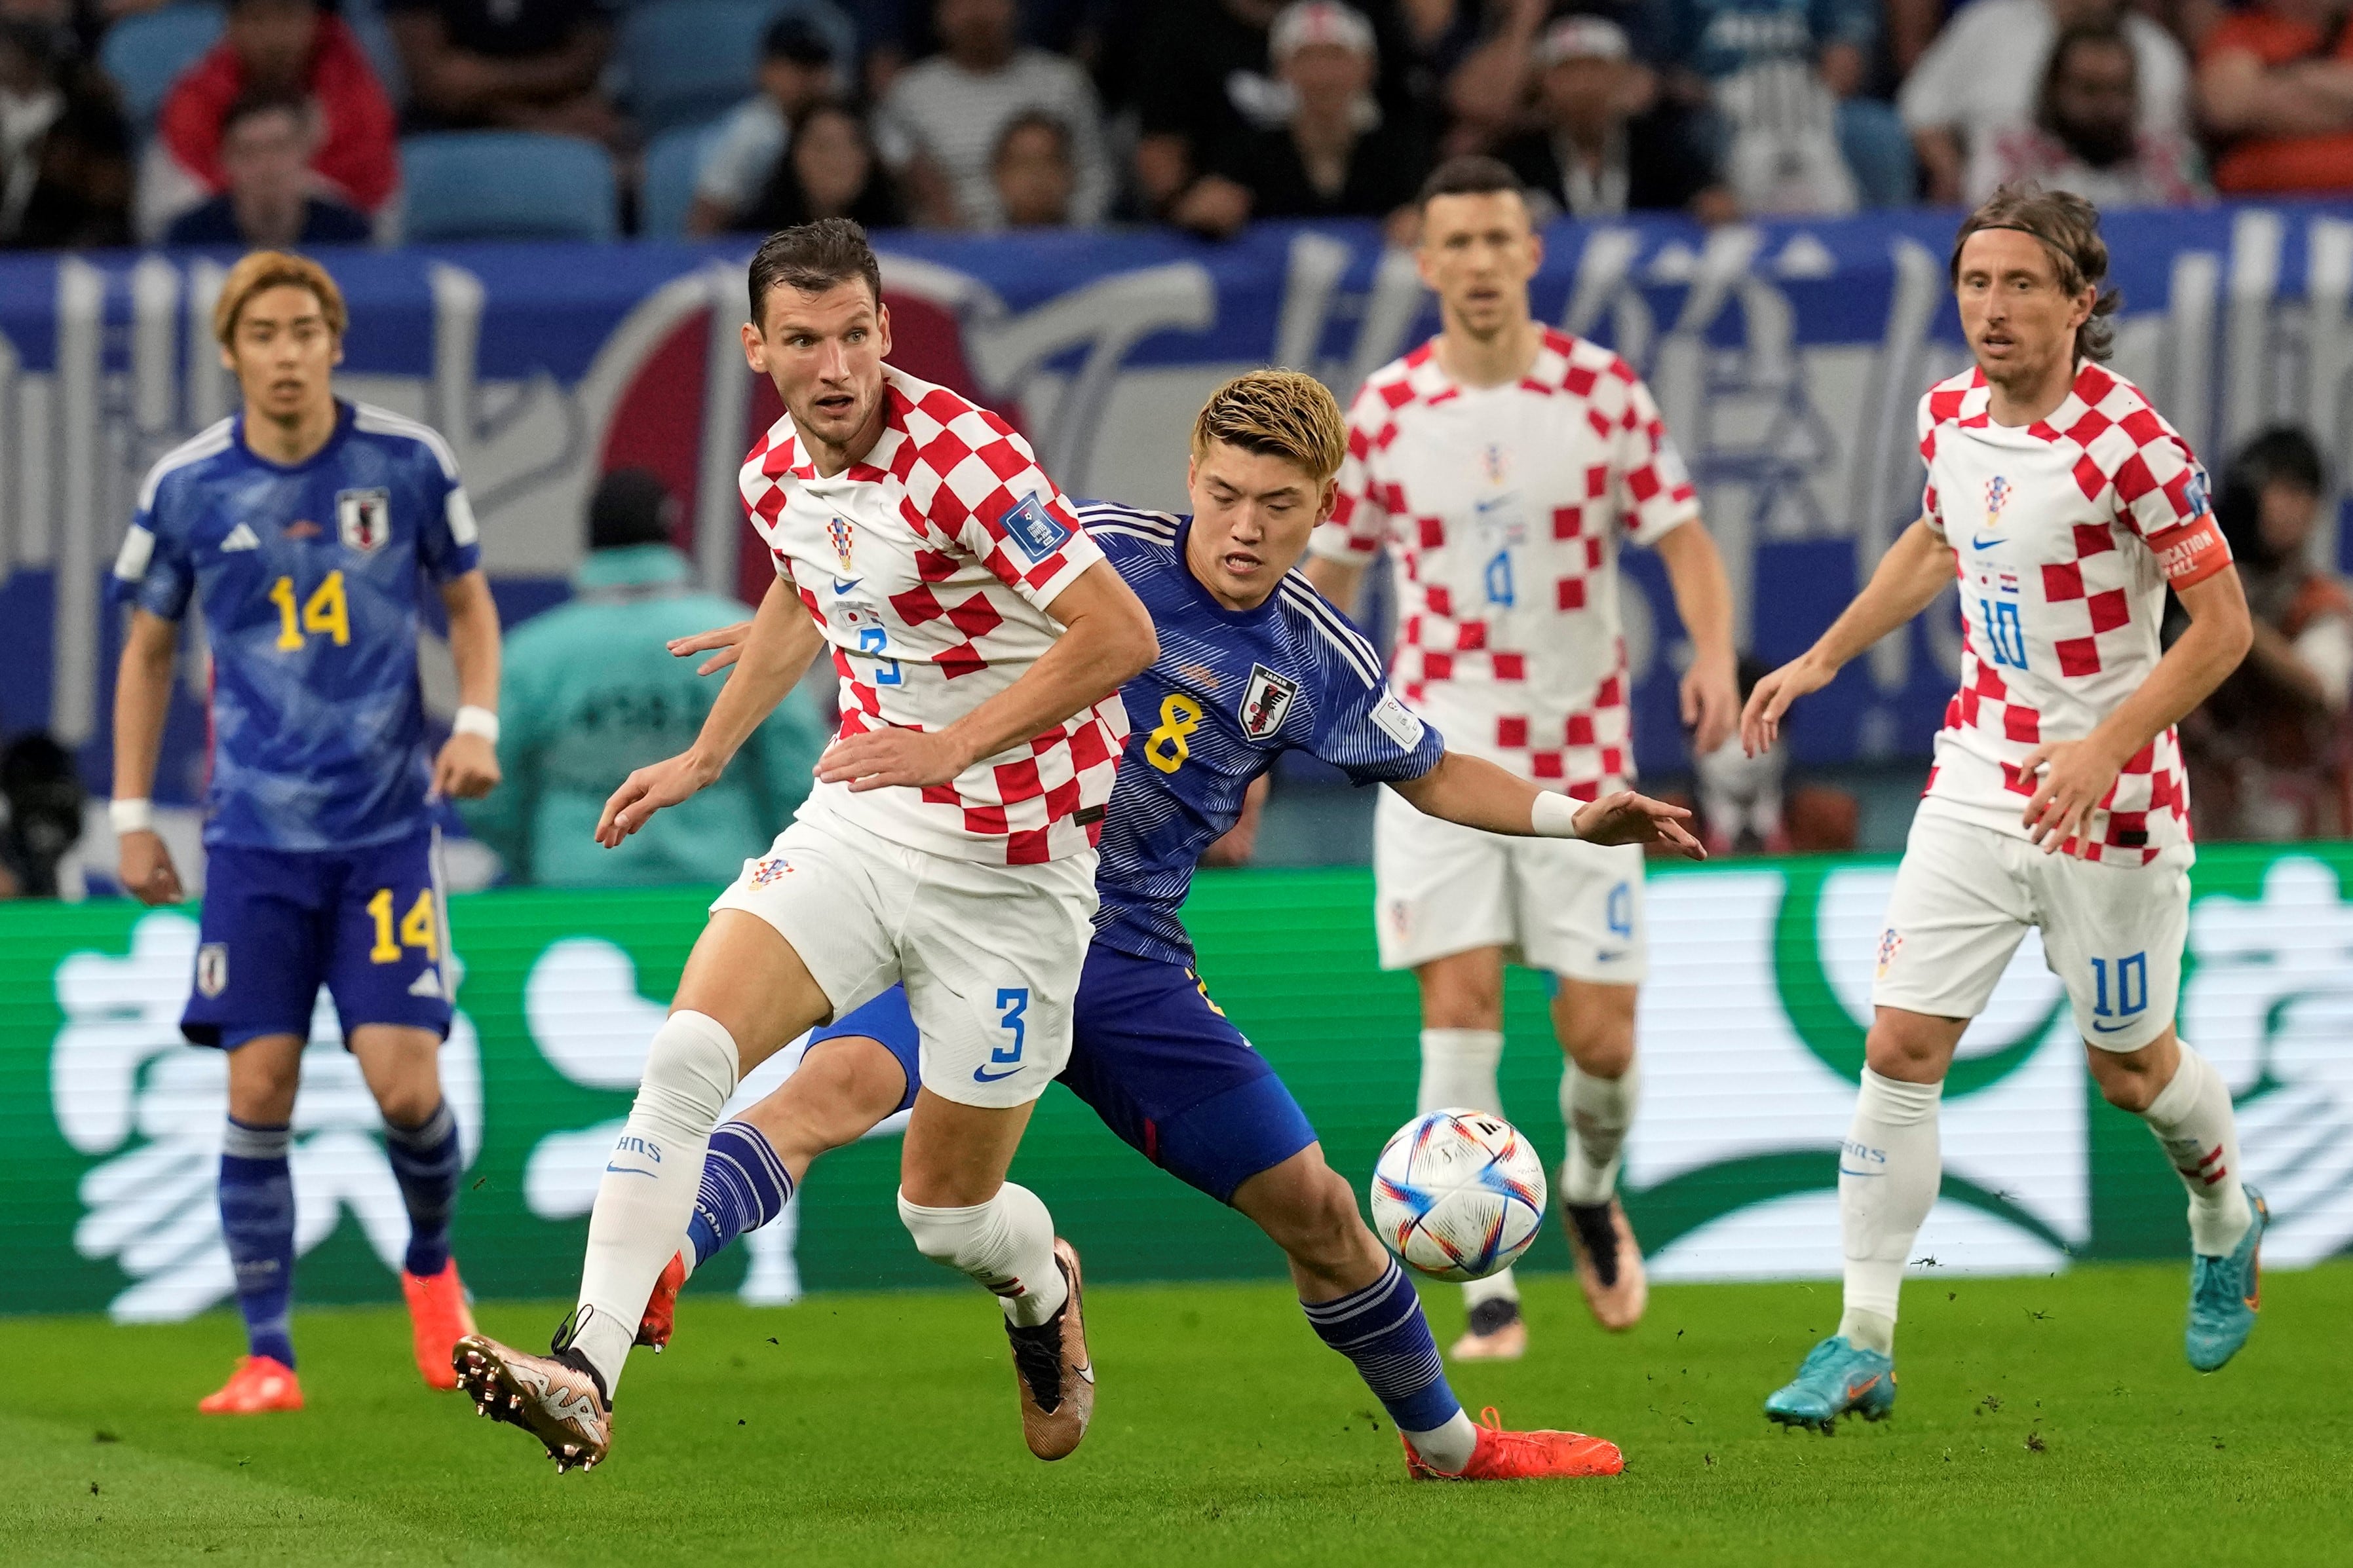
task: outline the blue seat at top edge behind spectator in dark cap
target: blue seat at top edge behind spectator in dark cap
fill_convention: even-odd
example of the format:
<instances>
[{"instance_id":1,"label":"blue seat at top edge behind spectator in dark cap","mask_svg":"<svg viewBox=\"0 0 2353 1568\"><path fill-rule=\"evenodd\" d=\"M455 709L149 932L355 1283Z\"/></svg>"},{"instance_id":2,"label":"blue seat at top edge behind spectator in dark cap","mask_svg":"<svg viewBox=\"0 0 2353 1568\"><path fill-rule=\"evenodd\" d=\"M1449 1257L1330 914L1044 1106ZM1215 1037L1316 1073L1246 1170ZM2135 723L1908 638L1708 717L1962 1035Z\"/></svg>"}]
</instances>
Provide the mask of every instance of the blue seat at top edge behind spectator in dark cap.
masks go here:
<instances>
[{"instance_id":1,"label":"blue seat at top edge behind spectator in dark cap","mask_svg":"<svg viewBox=\"0 0 2353 1568\"><path fill-rule=\"evenodd\" d=\"M621 14L628 106L649 134L711 120L758 87L760 35L798 12L854 80L856 28L826 0L649 0Z\"/></svg>"}]
</instances>

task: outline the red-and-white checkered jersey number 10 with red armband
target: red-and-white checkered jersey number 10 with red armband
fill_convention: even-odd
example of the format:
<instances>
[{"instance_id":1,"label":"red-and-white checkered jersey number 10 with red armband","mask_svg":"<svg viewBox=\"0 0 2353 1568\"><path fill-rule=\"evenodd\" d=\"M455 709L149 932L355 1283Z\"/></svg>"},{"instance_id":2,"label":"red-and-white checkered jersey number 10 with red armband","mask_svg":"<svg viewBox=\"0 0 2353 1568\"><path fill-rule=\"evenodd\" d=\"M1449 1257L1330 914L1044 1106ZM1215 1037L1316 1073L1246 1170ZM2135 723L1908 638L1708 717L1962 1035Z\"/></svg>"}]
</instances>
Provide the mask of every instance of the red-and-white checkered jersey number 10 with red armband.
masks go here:
<instances>
[{"instance_id":1,"label":"red-and-white checkered jersey number 10 with red armband","mask_svg":"<svg viewBox=\"0 0 2353 1568\"><path fill-rule=\"evenodd\" d=\"M2158 668L2165 585L2231 564L2188 442L2141 388L2085 364L2049 418L2009 428L1969 369L1920 400L1922 517L1960 578L1960 691L1944 712L1927 799L2026 837L2042 741L2080 741ZM2167 729L2099 802L2066 853L2148 865L2186 846L2188 783Z\"/></svg>"}]
</instances>

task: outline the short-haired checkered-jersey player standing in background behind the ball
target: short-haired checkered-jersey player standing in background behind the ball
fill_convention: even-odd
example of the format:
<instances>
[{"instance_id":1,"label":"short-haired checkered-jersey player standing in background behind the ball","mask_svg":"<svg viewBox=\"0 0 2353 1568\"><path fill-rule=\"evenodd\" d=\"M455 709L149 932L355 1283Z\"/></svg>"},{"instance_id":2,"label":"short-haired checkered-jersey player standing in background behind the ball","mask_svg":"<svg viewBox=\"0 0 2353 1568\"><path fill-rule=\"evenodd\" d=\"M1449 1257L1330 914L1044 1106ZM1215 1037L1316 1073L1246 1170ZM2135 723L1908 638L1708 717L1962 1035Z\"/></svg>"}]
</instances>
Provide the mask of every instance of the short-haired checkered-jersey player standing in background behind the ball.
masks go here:
<instances>
[{"instance_id":1,"label":"short-haired checkered-jersey player standing in background behind the ball","mask_svg":"<svg viewBox=\"0 0 2353 1568\"><path fill-rule=\"evenodd\" d=\"M1699 755L1739 712L1732 592L1649 390L1607 348L1529 317L1541 261L1504 165L1459 158L1424 186L1419 266L1442 331L1358 393L1308 578L1353 604L1386 550L1405 703L1454 748L1598 799L1633 780L1619 548L1649 545L1666 564L1692 637L1682 719ZM1642 851L1504 839L1384 795L1372 870L1381 966L1421 983L1421 1110L1501 1110L1504 961L1553 976L1569 1248L1593 1316L1631 1328L1647 1288L1617 1175L1640 1084ZM1464 1295L1457 1356L1527 1349L1508 1269Z\"/></svg>"}]
</instances>

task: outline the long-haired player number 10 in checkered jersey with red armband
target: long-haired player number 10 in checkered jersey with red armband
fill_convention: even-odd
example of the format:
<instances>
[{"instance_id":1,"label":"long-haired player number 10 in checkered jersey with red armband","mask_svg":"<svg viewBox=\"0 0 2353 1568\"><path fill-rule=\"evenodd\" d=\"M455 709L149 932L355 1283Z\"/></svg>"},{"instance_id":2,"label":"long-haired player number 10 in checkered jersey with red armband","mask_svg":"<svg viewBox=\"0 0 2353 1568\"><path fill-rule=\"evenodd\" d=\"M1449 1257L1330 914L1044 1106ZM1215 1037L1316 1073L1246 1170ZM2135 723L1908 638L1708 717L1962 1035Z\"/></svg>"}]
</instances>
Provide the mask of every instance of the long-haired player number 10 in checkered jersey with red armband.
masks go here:
<instances>
[{"instance_id":1,"label":"long-haired player number 10 in checkered jersey with red armband","mask_svg":"<svg viewBox=\"0 0 2353 1568\"><path fill-rule=\"evenodd\" d=\"M1894 1406L1897 1288L1937 1201L1937 1100L2028 926L2066 983L2099 1091L2165 1145L2191 1197L2188 1359L2254 1328L2264 1199L2240 1182L2231 1091L2174 1034L2191 813L2174 722L2252 639L2205 470L2101 367L2108 247L2078 195L2002 188L1960 226L1953 289L1977 369L1920 400L1927 491L1854 604L1741 715L1788 705L1958 576L1960 691L1878 947L1861 1095L1840 1145L1845 1316L1765 1401L1786 1425ZM2160 654L2165 590L2188 630Z\"/></svg>"}]
</instances>

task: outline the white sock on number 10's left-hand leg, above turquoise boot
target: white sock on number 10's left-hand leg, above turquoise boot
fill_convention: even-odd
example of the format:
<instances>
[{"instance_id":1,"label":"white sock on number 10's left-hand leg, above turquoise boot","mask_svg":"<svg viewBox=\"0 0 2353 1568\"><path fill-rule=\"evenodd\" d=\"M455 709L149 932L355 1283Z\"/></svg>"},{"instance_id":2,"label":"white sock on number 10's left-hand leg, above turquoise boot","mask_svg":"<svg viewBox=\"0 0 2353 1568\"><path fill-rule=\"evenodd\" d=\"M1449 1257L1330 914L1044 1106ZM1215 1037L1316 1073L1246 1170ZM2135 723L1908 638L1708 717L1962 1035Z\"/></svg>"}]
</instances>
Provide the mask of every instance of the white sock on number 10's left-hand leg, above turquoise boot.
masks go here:
<instances>
[{"instance_id":1,"label":"white sock on number 10's left-hand leg, above turquoise boot","mask_svg":"<svg viewBox=\"0 0 2353 1568\"><path fill-rule=\"evenodd\" d=\"M1847 1309L1838 1333L1849 1345L1894 1349L1904 1262L1944 1180L1937 1152L1941 1098L1941 1081L1904 1084L1864 1067L1854 1121L1838 1152L1838 1237L1847 1253Z\"/></svg>"}]
</instances>

